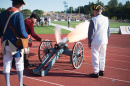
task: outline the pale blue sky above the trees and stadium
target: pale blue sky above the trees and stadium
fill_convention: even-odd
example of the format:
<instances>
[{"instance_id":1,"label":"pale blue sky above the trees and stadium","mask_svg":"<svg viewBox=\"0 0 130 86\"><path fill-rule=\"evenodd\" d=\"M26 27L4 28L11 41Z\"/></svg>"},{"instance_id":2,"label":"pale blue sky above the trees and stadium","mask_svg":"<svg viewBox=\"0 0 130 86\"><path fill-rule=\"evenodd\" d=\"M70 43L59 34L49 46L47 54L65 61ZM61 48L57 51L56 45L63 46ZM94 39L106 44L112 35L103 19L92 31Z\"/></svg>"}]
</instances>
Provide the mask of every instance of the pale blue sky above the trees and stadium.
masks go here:
<instances>
[{"instance_id":1,"label":"pale blue sky above the trees and stadium","mask_svg":"<svg viewBox=\"0 0 130 86\"><path fill-rule=\"evenodd\" d=\"M63 2L66 1L68 7L77 8L78 6L88 5L89 2L96 3L97 0L24 0L28 5L23 5L23 9L30 9L31 11L39 9L44 12L50 11L64 11ZM99 0L107 5L110 0ZM130 0L118 0L118 2L122 2L125 4L126 1ZM0 0L0 8L8 8L12 6L11 0Z\"/></svg>"}]
</instances>

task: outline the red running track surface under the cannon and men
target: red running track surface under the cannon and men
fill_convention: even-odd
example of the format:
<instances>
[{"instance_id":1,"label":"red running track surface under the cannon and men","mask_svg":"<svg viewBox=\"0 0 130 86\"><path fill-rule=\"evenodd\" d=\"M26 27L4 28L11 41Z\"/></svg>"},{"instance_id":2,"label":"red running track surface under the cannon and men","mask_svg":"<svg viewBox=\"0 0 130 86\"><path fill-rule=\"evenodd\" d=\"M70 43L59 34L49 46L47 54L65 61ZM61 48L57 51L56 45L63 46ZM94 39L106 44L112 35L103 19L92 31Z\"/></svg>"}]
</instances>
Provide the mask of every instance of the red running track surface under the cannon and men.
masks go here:
<instances>
[{"instance_id":1,"label":"red running track surface under the cannon and men","mask_svg":"<svg viewBox=\"0 0 130 86\"><path fill-rule=\"evenodd\" d=\"M55 41L53 34L40 35L43 39ZM62 38L66 35L62 35ZM60 57L46 76L33 75L32 69L40 63L38 59L39 42L34 41L30 51L29 62L34 64L32 68L24 70L24 84L27 86L130 86L130 35L111 34L107 47L106 68L103 77L91 78L93 72L90 49L87 47L87 39L81 41L84 46L84 59L79 69L74 69L69 63L69 57ZM74 43L68 43L72 49ZM1 51L1 47L0 47ZM6 86L3 70L3 60L0 56L0 86ZM15 68L11 69L11 86L18 86L18 78Z\"/></svg>"}]
</instances>

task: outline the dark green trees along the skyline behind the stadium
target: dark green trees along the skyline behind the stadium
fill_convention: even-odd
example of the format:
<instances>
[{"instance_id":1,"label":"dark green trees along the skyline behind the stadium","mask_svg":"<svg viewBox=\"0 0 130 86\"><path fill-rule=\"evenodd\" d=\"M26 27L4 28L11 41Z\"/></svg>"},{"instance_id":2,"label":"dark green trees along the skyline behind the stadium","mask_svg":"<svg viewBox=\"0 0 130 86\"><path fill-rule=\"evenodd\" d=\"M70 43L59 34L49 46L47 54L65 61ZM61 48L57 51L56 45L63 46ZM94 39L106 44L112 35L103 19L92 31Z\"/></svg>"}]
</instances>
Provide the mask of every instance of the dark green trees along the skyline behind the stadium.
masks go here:
<instances>
[{"instance_id":1,"label":"dark green trees along the skyline behind the stadium","mask_svg":"<svg viewBox=\"0 0 130 86\"><path fill-rule=\"evenodd\" d=\"M91 15L93 16L93 10L92 5L97 4L104 7L105 11L103 12L103 15L108 16L109 19L115 19L115 20L122 20L122 19L128 19L130 20L130 1L126 1L126 3L123 5L121 2L118 2L118 0L110 0L107 5L104 5L103 2L97 0L94 2L89 2L88 5L79 6L77 8L69 7L68 13L82 13L85 15ZM5 8L0 8L0 13L2 11L6 10ZM21 10L21 12L24 15L24 18L27 18L31 15L31 10L24 9ZM57 12L57 13L63 13L64 11ZM38 14L40 17L43 17L44 11L42 10L34 10L33 13Z\"/></svg>"}]
</instances>

